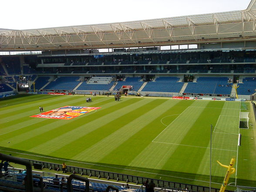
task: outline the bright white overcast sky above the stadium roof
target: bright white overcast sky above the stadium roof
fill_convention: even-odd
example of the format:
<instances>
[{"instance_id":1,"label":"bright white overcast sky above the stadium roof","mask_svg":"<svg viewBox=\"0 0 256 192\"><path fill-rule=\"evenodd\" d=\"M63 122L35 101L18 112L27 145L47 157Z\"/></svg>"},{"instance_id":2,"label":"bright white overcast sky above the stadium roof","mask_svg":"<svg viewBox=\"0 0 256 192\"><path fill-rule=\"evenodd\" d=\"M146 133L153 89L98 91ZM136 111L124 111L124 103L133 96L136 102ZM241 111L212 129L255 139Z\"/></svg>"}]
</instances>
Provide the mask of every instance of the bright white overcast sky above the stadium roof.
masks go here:
<instances>
[{"instance_id":1,"label":"bright white overcast sky above the stadium roof","mask_svg":"<svg viewBox=\"0 0 256 192\"><path fill-rule=\"evenodd\" d=\"M3 0L0 28L37 29L245 10L251 0Z\"/></svg>"}]
</instances>

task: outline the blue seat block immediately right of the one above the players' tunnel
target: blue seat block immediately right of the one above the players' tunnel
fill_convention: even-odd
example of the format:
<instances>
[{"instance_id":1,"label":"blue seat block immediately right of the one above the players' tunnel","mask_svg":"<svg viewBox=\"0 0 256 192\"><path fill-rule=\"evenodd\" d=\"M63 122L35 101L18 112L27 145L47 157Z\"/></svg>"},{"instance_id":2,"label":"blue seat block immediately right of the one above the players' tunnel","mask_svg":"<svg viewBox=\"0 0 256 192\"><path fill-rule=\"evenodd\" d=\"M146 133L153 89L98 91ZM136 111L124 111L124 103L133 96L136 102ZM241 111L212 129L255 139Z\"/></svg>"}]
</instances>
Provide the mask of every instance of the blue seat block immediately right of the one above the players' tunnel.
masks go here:
<instances>
[{"instance_id":1,"label":"blue seat block immediately right of the one above the players' tunnel","mask_svg":"<svg viewBox=\"0 0 256 192\"><path fill-rule=\"evenodd\" d=\"M155 82L148 82L142 91L179 93L184 82L178 81L178 77L158 77Z\"/></svg>"}]
</instances>

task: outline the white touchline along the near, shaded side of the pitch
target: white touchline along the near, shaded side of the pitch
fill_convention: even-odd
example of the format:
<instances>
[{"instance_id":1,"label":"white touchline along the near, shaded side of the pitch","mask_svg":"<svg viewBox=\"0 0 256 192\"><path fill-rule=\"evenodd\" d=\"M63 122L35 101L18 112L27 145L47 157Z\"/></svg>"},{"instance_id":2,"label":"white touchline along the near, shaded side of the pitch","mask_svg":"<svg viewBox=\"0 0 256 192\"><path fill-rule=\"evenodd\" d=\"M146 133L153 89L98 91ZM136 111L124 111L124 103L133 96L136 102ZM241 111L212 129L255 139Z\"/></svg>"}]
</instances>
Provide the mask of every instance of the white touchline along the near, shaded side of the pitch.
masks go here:
<instances>
[{"instance_id":1,"label":"white touchline along the near, shaded side of the pitch","mask_svg":"<svg viewBox=\"0 0 256 192\"><path fill-rule=\"evenodd\" d=\"M121 169L121 170L128 170L128 171L134 171L134 172L141 172L141 173L147 173L147 174L153 174L153 175L162 175L162 174L158 174L158 173L143 172L143 171L137 171L137 170L128 169L128 168L119 168L119 167L111 167L111 166L106 166L106 165L98 165L98 164L93 164L93 163L77 162L77 161L71 161L71 160L61 159L61 158L51 158L51 157L45 157L45 156L40 156L40 155L31 155L31 154L26 154L26 153L12 152L12 151L2 150L2 149L0 149L0 151L3 151L3 152L11 152L11 153L17 153L17 154L21 154L21 155L30 155L30 156L36 156L36 157L42 157L42 158L56 159L56 160L61 160L61 161L66 161L66 162L75 162L75 163L81 163L81 164L87 164L87 165L96 165L96 166L101 166L101 167L117 168L117 169ZM36 160L34 160L34 161L36 161ZM206 182L206 183L209 183L208 181L202 181L202 180L196 180L196 179L189 179L189 178L184 178L184 177L176 177L176 176L172 176L172 175L162 175L162 176L174 177L174 178L179 178L179 179L187 179L187 180L192 180L192 181L199 181L199 182ZM215 183L215 182L212 182L212 183ZM216 184L221 184L221 183L216 183Z\"/></svg>"}]
</instances>

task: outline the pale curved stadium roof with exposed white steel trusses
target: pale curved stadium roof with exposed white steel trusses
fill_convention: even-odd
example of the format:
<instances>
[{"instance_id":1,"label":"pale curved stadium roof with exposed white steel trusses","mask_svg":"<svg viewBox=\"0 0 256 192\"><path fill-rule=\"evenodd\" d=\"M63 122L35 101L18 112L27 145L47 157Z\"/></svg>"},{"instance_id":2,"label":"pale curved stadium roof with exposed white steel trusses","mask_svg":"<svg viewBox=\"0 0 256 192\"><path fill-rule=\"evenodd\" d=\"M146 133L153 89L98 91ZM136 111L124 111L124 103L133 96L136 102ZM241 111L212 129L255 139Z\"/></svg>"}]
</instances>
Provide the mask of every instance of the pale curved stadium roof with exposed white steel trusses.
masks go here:
<instances>
[{"instance_id":1,"label":"pale curved stadium roof with exposed white steel trusses","mask_svg":"<svg viewBox=\"0 0 256 192\"><path fill-rule=\"evenodd\" d=\"M256 0L246 10L30 30L0 29L0 51L146 47L256 40Z\"/></svg>"}]
</instances>

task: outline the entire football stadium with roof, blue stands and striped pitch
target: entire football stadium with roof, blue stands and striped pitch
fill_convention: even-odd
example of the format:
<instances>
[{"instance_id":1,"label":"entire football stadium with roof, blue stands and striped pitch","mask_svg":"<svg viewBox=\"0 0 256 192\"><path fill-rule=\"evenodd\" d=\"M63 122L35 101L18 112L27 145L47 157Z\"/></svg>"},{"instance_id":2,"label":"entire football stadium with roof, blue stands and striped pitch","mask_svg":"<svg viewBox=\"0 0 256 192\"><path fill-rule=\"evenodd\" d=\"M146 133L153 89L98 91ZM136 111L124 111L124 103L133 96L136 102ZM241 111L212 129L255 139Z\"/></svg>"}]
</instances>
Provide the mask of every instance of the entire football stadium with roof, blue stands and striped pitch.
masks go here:
<instances>
[{"instance_id":1,"label":"entire football stadium with roof, blue stands and striped pitch","mask_svg":"<svg viewBox=\"0 0 256 192\"><path fill-rule=\"evenodd\" d=\"M0 192L255 192L246 10L0 29Z\"/></svg>"}]
</instances>

